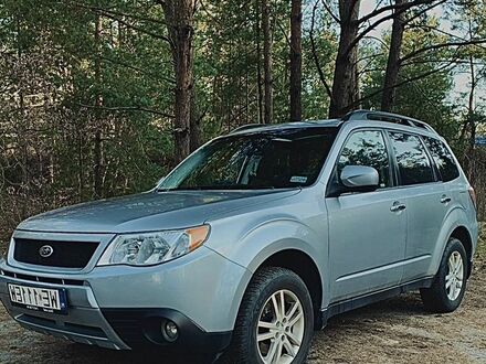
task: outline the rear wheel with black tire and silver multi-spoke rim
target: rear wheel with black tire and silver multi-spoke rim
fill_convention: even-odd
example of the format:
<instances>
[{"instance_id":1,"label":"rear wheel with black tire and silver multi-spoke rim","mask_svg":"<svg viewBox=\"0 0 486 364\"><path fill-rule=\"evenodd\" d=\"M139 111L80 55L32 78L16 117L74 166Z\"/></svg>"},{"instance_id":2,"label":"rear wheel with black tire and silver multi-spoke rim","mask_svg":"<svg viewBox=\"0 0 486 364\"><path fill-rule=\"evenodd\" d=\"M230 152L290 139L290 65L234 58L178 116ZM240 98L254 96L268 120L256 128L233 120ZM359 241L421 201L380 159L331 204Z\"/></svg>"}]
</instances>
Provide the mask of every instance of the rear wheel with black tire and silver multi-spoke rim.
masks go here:
<instances>
[{"instance_id":1,"label":"rear wheel with black tire and silver multi-spoke rim","mask_svg":"<svg viewBox=\"0 0 486 364\"><path fill-rule=\"evenodd\" d=\"M458 268L458 258L462 260L462 274ZM456 261L456 264L454 264L454 261ZM446 313L453 312L459 307L466 291L467 265L468 260L464 245L455 237L451 237L431 288L420 290L422 301L429 311ZM451 279L451 277L453 277L450 276L451 267L456 267L458 271L458 274L453 274L455 280ZM461 288L457 289L459 283Z\"/></svg>"}]
</instances>

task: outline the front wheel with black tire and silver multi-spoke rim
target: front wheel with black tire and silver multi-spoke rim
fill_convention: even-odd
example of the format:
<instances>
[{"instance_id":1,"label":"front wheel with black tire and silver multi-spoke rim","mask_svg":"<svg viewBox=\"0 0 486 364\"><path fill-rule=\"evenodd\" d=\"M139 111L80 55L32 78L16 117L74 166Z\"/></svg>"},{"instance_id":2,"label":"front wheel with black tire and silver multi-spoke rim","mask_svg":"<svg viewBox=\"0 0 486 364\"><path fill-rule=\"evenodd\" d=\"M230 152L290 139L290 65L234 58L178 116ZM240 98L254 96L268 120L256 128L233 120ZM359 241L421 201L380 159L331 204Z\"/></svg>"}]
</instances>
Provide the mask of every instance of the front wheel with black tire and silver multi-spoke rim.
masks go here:
<instances>
[{"instance_id":1,"label":"front wheel with black tire and silver multi-spoke rim","mask_svg":"<svg viewBox=\"0 0 486 364\"><path fill-rule=\"evenodd\" d=\"M277 320L274 299L279 308L282 295L286 302L285 312L288 318L279 315ZM281 309L278 312L282 311L284 310ZM299 312L303 317L290 326L290 321L295 321L299 317ZM258 326L260 320L267 322L268 326L266 324ZM292 270L265 267L256 271L246 289L236 318L232 342L219 363L304 363L313 333L313 303L304 281ZM258 344L257 334L261 335L261 339L267 339L262 340ZM299 338L302 339L298 340ZM298 341L300 341L299 346L297 346ZM281 361L276 360L277 355L275 354L273 361L264 362L264 358L270 358L267 355L271 355L272 347L275 347L275 353L281 350ZM292 350L294 355L288 356Z\"/></svg>"}]
</instances>

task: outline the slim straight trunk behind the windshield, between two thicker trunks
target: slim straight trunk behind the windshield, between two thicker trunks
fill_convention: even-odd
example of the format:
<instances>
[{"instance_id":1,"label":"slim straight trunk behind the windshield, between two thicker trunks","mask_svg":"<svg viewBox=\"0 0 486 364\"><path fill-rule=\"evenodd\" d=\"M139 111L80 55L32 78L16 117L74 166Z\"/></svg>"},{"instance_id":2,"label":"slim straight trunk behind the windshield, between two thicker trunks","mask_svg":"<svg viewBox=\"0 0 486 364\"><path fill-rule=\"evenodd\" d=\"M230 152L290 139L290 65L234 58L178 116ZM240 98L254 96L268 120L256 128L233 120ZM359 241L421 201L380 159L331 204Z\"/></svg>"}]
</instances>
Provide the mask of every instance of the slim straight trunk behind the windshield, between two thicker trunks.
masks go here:
<instances>
[{"instance_id":1,"label":"slim straight trunk behind the windshield, between two thicker trunks","mask_svg":"<svg viewBox=\"0 0 486 364\"><path fill-rule=\"evenodd\" d=\"M263 63L264 63L264 122L271 124L273 119L273 76L272 76L272 26L268 0L262 0L263 26Z\"/></svg>"}]
</instances>

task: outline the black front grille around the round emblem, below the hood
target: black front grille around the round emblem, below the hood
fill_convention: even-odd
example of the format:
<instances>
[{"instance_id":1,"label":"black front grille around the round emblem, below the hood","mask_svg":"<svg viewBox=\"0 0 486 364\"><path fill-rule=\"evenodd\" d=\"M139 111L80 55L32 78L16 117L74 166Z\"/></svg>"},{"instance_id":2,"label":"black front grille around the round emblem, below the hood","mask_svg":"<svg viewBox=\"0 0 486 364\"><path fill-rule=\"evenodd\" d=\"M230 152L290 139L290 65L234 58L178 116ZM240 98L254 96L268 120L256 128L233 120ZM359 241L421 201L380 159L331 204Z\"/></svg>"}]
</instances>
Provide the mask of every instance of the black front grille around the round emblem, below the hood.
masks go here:
<instances>
[{"instance_id":1,"label":"black front grille around the round emblem, below the hood","mask_svg":"<svg viewBox=\"0 0 486 364\"><path fill-rule=\"evenodd\" d=\"M93 242L53 242L15 238L13 257L17 261L38 266L60 268L84 268L88 264L99 243ZM52 253L43 257L40 250L50 246Z\"/></svg>"}]
</instances>

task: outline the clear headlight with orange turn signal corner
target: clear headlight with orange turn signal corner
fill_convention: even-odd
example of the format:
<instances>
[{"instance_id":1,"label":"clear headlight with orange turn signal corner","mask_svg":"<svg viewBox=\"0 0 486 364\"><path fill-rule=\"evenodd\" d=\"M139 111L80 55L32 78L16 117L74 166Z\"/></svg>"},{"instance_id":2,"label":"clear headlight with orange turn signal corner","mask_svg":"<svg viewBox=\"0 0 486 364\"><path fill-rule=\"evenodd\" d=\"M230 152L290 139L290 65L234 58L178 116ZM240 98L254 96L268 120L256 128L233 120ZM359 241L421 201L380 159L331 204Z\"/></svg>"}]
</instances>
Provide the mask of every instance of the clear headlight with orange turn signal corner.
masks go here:
<instances>
[{"instance_id":1,"label":"clear headlight with orange turn signal corner","mask_svg":"<svg viewBox=\"0 0 486 364\"><path fill-rule=\"evenodd\" d=\"M169 261L199 248L208 235L209 225L183 231L118 235L99 258L98 266L149 266Z\"/></svg>"}]
</instances>

